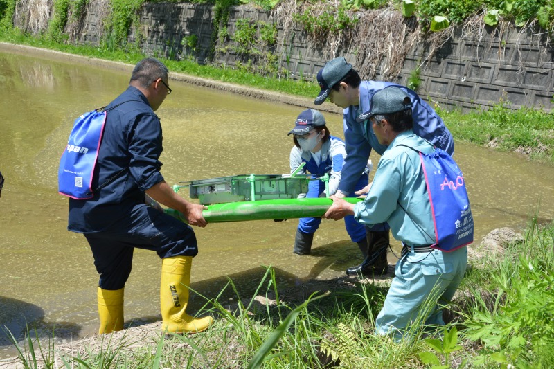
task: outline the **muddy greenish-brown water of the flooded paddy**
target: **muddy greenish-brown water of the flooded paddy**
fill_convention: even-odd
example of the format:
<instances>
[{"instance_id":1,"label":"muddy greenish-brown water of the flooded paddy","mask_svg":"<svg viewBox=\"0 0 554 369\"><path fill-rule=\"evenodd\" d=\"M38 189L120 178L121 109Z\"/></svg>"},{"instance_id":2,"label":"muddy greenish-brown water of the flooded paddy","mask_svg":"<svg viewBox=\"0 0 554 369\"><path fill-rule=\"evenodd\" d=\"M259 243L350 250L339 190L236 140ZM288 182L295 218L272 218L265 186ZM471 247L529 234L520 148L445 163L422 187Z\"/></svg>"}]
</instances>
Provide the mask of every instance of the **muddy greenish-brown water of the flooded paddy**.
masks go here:
<instances>
[{"instance_id":1,"label":"muddy greenish-brown water of the flooded paddy","mask_svg":"<svg viewBox=\"0 0 554 369\"><path fill-rule=\"evenodd\" d=\"M46 332L55 327L58 341L96 331L98 276L84 237L66 231L67 200L57 194L57 163L73 119L106 105L128 80L128 72L0 51L0 170L6 177L0 199L0 323L15 335L26 321ZM168 183L287 172L287 132L301 108L175 81L170 86L172 95L157 111ZM341 117L325 116L332 134L342 136ZM539 217L552 219L554 168L459 143L455 158L467 178L476 240L494 228L523 228L539 202ZM188 196L186 189L179 193ZM249 297L267 265L276 270L278 283L299 285L308 278L342 276L359 261L343 223L325 220L312 255L292 254L296 224L289 219L197 228L200 252L192 287L215 298L229 277L240 296ZM392 255L389 262L395 262ZM125 289L127 323L159 320L160 266L154 253L135 252ZM202 298L191 305L201 306ZM0 357L13 353L0 339Z\"/></svg>"}]
</instances>

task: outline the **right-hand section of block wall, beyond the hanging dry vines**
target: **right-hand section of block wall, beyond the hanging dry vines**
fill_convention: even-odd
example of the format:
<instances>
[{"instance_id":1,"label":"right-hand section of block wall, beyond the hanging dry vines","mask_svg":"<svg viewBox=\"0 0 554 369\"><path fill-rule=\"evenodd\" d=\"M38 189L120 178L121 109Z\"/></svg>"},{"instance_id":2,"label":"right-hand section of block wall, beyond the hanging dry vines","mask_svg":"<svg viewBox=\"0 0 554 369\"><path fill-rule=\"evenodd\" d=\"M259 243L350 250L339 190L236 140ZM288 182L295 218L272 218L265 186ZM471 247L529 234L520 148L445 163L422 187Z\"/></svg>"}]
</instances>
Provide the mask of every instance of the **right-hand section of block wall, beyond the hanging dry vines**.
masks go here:
<instances>
[{"instance_id":1,"label":"right-hand section of block wall, beyond the hanging dry vines","mask_svg":"<svg viewBox=\"0 0 554 369\"><path fill-rule=\"evenodd\" d=\"M490 107L500 100L512 108L523 106L551 110L554 96L554 54L546 49L546 39L537 39L530 30L510 28L499 35L485 28L479 37L454 37L421 69L422 96L447 109ZM400 83L407 82L425 57L417 48L404 62Z\"/></svg>"}]
</instances>

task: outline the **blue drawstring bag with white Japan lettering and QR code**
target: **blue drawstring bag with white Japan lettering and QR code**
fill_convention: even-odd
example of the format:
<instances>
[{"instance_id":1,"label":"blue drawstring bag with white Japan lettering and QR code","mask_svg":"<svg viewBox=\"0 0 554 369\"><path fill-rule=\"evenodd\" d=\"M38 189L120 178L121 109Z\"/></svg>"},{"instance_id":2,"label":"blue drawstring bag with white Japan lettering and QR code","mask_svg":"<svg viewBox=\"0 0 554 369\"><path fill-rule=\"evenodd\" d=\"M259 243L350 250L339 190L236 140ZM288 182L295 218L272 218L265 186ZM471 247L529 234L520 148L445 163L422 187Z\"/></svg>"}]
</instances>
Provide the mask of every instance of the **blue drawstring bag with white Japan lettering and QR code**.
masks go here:
<instances>
[{"instance_id":1,"label":"blue drawstring bag with white Japan lettering and QR code","mask_svg":"<svg viewBox=\"0 0 554 369\"><path fill-rule=\"evenodd\" d=\"M93 173L106 118L107 111L100 108L75 119L57 171L60 195L78 200L91 199L94 196Z\"/></svg>"}]
</instances>

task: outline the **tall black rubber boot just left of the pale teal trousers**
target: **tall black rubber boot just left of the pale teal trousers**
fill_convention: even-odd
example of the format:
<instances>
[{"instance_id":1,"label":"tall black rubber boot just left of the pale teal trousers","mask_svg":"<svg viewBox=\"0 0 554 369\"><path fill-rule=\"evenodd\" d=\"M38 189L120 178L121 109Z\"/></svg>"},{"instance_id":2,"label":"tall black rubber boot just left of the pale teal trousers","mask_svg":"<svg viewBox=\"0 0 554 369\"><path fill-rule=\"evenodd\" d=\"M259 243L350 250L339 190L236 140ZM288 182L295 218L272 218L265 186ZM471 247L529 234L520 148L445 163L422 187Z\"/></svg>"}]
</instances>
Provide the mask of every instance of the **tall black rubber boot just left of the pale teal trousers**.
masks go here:
<instances>
[{"instance_id":1,"label":"tall black rubber boot just left of the pale teal trousers","mask_svg":"<svg viewBox=\"0 0 554 369\"><path fill-rule=\"evenodd\" d=\"M346 269L348 276L380 275L388 271L388 261L386 260L386 251L389 244L388 231L371 232L368 231L368 256L361 264L356 267Z\"/></svg>"}]
</instances>

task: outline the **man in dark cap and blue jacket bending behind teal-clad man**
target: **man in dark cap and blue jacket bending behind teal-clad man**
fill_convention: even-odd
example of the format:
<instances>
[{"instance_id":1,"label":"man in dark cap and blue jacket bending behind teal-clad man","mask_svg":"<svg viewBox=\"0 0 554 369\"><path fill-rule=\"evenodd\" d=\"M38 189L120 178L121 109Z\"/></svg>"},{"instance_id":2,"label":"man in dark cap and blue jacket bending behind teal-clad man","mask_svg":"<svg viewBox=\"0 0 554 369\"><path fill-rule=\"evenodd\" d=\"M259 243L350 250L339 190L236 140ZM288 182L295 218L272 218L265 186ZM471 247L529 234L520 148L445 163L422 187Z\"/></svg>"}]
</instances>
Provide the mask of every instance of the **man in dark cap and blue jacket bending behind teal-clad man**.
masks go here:
<instances>
[{"instance_id":1,"label":"man in dark cap and blue jacket bending behind teal-clad man","mask_svg":"<svg viewBox=\"0 0 554 369\"><path fill-rule=\"evenodd\" d=\"M337 197L347 197L355 192L355 183L364 171L372 150L382 155L386 145L377 140L371 124L366 124L371 109L373 93L387 86L395 86L405 91L412 103L413 133L425 138L448 154L454 153L454 140L443 123L427 102L411 89L392 82L361 81L357 71L344 57L336 57L325 64L317 74L321 91L314 104L320 105L327 98L337 107L342 107L344 121L344 161L341 183ZM368 188L356 191L356 195L367 193ZM382 274L388 271L386 251L389 245L388 224L374 224L366 228L367 249L361 250L364 261L346 269L348 275ZM367 256L366 256L367 255Z\"/></svg>"}]
</instances>

